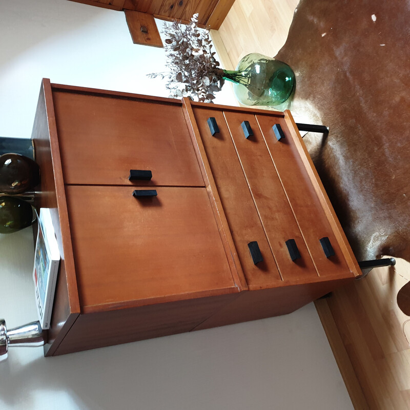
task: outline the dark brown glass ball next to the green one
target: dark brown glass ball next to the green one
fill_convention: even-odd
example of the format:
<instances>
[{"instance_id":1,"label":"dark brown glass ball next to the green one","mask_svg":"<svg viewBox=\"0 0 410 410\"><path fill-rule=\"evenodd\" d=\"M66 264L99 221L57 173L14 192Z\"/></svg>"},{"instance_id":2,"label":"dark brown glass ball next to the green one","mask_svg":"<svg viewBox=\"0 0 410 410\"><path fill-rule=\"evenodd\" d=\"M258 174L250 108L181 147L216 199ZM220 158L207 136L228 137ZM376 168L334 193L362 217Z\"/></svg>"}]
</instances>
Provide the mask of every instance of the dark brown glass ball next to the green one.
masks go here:
<instances>
[{"instance_id":1,"label":"dark brown glass ball next to the green one","mask_svg":"<svg viewBox=\"0 0 410 410\"><path fill-rule=\"evenodd\" d=\"M31 159L20 154L0 156L0 192L13 195L33 189L40 182L40 169Z\"/></svg>"}]
</instances>

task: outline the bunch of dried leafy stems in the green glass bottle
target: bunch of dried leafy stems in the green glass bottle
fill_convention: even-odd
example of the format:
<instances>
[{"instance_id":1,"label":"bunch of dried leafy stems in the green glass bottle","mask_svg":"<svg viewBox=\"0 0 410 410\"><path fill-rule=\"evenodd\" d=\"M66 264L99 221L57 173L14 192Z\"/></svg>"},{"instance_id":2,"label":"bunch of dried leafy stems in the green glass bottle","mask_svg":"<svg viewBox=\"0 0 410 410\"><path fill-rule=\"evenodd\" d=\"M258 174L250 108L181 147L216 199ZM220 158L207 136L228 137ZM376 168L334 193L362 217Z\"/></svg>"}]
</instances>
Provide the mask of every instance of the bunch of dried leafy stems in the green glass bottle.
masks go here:
<instances>
[{"instance_id":1,"label":"bunch of dried leafy stems in the green glass bottle","mask_svg":"<svg viewBox=\"0 0 410 410\"><path fill-rule=\"evenodd\" d=\"M165 52L169 72L153 73L151 78L167 78L167 89L171 98L190 95L203 103L210 103L214 93L220 91L224 83L223 70L212 52L209 30L198 28L198 14L185 25L174 20L171 25L164 23Z\"/></svg>"}]
</instances>

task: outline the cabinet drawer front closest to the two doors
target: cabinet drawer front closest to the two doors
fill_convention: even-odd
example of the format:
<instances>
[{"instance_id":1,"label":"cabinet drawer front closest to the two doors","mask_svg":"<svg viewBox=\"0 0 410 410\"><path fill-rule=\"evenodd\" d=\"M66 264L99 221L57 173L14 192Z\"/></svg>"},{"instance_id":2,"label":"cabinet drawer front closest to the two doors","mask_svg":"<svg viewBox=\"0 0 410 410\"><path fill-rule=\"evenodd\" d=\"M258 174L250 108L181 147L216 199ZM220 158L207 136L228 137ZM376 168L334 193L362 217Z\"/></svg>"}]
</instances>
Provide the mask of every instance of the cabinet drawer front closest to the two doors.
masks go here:
<instances>
[{"instance_id":1,"label":"cabinet drawer front closest to the two doors","mask_svg":"<svg viewBox=\"0 0 410 410\"><path fill-rule=\"evenodd\" d=\"M248 286L254 289L277 285L281 278L223 113L199 107L193 110ZM207 123L210 117L215 118L219 127L214 136ZM248 248L253 241L258 243L263 257L256 265Z\"/></svg>"}]
</instances>

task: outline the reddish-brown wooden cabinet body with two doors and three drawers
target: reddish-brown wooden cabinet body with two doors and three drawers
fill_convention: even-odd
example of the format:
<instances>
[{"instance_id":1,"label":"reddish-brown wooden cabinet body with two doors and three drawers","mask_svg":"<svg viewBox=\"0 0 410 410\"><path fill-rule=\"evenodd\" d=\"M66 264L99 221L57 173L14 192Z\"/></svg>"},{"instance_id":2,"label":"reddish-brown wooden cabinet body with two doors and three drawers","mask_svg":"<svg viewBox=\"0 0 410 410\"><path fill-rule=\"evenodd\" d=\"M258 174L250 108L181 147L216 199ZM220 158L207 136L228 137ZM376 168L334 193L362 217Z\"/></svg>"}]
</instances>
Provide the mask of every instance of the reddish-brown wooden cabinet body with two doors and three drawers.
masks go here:
<instances>
[{"instance_id":1,"label":"reddish-brown wooden cabinet body with two doors and three drawers","mask_svg":"<svg viewBox=\"0 0 410 410\"><path fill-rule=\"evenodd\" d=\"M288 111L45 79L32 138L61 252L47 356L289 313L360 274Z\"/></svg>"}]
</instances>

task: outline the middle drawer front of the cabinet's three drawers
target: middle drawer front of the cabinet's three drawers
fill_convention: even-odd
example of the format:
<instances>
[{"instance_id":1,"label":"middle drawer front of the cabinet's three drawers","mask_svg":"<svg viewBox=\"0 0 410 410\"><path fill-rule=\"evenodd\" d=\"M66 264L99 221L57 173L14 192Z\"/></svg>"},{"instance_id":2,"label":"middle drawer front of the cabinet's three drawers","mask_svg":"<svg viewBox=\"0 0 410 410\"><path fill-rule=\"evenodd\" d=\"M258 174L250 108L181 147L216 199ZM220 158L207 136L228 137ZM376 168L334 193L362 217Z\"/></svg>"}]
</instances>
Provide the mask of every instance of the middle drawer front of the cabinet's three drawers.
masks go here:
<instances>
[{"instance_id":1,"label":"middle drawer front of the cabinet's three drawers","mask_svg":"<svg viewBox=\"0 0 410 410\"><path fill-rule=\"evenodd\" d=\"M224 116L282 278L297 283L317 277L255 116L229 111ZM243 121L249 122L253 132L248 138L241 127ZM289 239L295 240L300 253L294 261L285 244Z\"/></svg>"}]
</instances>

